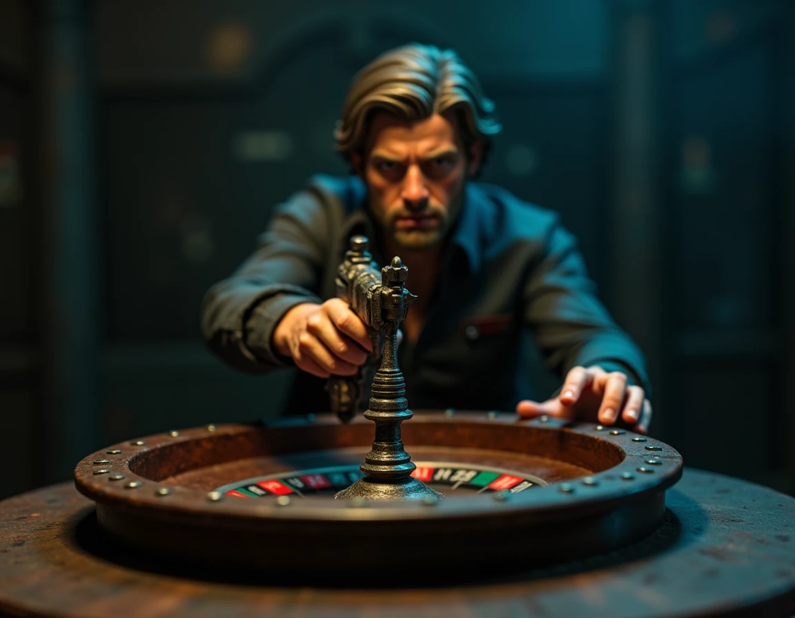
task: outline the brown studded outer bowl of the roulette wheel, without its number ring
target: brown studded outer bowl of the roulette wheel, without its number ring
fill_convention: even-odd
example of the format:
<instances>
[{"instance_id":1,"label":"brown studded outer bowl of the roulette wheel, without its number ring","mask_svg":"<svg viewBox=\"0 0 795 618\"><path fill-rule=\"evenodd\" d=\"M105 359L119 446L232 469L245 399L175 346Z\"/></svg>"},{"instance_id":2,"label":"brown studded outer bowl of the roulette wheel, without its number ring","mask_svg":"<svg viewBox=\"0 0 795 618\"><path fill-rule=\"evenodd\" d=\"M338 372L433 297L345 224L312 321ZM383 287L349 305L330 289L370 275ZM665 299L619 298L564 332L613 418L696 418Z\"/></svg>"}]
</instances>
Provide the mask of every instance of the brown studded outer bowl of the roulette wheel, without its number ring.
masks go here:
<instances>
[{"instance_id":1,"label":"brown studded outer bowl of the roulette wheel, without its number ring","mask_svg":"<svg viewBox=\"0 0 795 618\"><path fill-rule=\"evenodd\" d=\"M325 415L286 427L230 425L153 435L83 459L76 468L76 485L97 502L105 530L150 555L183 554L206 565L308 575L317 569L353 569L358 555L371 553L373 547L392 555L392 566L425 573L491 570L494 563L511 561L542 566L613 550L649 534L661 522L664 491L681 475L676 450L628 431L592 423L564 425L557 419L519 421L508 414L461 413L451 419L429 411L406 423L406 443L532 453L560 462L559 467L578 465L590 477L568 487L549 485L502 496L366 505L322 496L287 504L276 498L239 500L221 494L211 500L206 490L173 482L205 470L218 487L239 480L223 477L229 471L223 464L241 459L280 462L320 447L349 452L351 446L370 442L371 427L357 419L343 426ZM204 543L207 535L216 542ZM463 537L478 535L488 535L490 542L461 543ZM269 552L257 550L260 546ZM309 551L311 561L304 559ZM281 554L278 562L273 552ZM365 575L378 579L373 570Z\"/></svg>"}]
</instances>

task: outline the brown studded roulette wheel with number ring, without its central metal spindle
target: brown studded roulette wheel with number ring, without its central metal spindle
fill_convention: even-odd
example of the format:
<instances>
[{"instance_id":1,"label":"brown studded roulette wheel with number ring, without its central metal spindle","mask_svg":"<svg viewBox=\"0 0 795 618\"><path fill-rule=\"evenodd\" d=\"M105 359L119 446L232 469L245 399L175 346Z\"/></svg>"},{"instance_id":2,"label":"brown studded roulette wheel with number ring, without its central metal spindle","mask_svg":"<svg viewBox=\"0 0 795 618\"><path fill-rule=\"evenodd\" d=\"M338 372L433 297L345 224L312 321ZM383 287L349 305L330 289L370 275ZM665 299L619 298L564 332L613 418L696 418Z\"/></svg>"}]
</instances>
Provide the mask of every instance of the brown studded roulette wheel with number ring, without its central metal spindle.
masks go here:
<instances>
[{"instance_id":1,"label":"brown studded roulette wheel with number ring, without its central metal spindle","mask_svg":"<svg viewBox=\"0 0 795 618\"><path fill-rule=\"evenodd\" d=\"M355 569L368 554L394 569L471 574L613 550L661 523L665 489L681 475L673 448L624 430L423 411L405 427L410 474L437 495L344 500L335 494L363 477L366 419L173 434L80 462L76 485L99 525L160 559L304 578Z\"/></svg>"}]
</instances>

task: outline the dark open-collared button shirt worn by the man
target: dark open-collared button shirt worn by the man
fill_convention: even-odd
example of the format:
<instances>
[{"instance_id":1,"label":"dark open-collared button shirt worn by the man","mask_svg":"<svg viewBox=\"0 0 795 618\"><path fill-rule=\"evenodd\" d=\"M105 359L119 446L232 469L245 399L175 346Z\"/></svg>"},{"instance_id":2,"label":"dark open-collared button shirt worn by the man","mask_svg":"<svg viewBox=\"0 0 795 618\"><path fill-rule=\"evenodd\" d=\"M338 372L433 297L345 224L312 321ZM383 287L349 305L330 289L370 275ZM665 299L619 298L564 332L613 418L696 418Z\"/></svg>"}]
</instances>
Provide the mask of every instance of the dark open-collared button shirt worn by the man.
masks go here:
<instances>
[{"instance_id":1,"label":"dark open-collared button shirt worn by the man","mask_svg":"<svg viewBox=\"0 0 795 618\"><path fill-rule=\"evenodd\" d=\"M258 249L207 292L202 326L211 350L251 372L292 365L273 351L273 330L298 303L335 296L351 235L370 238L385 264L364 200L359 178L316 176L282 203ZM642 353L596 298L576 239L552 211L468 183L443 263L417 342L398 350L409 407L512 411L533 396L522 329L561 379L576 365L601 365L648 392ZM324 384L299 372L288 411L328 410Z\"/></svg>"}]
</instances>

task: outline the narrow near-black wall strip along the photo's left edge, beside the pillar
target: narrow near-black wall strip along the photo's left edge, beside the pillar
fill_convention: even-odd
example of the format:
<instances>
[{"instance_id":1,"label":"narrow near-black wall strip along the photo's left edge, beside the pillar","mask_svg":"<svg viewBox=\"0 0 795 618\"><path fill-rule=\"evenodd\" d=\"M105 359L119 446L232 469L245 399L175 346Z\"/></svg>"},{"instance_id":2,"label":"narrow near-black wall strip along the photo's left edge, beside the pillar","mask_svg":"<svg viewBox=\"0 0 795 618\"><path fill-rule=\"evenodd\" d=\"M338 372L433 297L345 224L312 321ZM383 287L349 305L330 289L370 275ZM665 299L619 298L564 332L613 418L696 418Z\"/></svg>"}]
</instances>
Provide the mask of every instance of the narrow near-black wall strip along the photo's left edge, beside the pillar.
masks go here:
<instances>
[{"instance_id":1,"label":"narrow near-black wall strip along the photo's left edge, beside the pillar","mask_svg":"<svg viewBox=\"0 0 795 618\"><path fill-rule=\"evenodd\" d=\"M34 440L36 320L33 318L33 200L27 190L33 145L30 15L23 2L0 2L0 495L37 482L28 461ZM23 180L23 174L25 179Z\"/></svg>"}]
</instances>

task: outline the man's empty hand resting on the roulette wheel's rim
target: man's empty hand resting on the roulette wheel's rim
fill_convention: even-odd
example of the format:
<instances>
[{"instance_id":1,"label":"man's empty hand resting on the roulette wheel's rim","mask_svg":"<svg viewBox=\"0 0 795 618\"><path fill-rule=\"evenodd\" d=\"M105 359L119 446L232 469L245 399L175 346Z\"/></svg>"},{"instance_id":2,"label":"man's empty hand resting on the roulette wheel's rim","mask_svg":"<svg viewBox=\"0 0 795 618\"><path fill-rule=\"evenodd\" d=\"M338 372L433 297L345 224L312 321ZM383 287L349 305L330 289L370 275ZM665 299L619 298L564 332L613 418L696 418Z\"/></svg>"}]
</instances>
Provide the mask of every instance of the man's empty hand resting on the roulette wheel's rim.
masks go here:
<instances>
[{"instance_id":1,"label":"man's empty hand resting on the roulette wheel's rim","mask_svg":"<svg viewBox=\"0 0 795 618\"><path fill-rule=\"evenodd\" d=\"M594 365L572 368L559 396L541 403L520 401L516 413L525 419L545 414L560 419L599 421L603 425L622 419L632 431L645 434L651 421L651 403L643 388L626 384L625 374L607 373Z\"/></svg>"}]
</instances>

